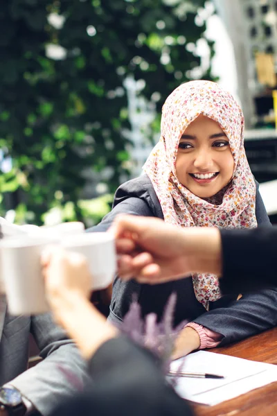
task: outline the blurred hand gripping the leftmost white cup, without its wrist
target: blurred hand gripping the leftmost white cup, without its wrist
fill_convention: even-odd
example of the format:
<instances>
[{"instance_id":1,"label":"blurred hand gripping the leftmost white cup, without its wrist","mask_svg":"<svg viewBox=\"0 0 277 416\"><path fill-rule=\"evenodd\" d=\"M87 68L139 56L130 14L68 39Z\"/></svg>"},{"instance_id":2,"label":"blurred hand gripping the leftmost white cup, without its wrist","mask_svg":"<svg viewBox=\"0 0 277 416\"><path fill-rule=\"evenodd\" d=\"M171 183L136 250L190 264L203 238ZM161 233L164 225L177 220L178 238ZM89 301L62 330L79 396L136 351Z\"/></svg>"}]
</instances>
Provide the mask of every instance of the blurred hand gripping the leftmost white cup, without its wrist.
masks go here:
<instances>
[{"instance_id":1,"label":"blurred hand gripping the leftmost white cup, without its wrist","mask_svg":"<svg viewBox=\"0 0 277 416\"><path fill-rule=\"evenodd\" d=\"M42 254L46 297L57 323L73 298L87 299L91 293L91 275L82 254L68 253L59 247L48 248Z\"/></svg>"}]
</instances>

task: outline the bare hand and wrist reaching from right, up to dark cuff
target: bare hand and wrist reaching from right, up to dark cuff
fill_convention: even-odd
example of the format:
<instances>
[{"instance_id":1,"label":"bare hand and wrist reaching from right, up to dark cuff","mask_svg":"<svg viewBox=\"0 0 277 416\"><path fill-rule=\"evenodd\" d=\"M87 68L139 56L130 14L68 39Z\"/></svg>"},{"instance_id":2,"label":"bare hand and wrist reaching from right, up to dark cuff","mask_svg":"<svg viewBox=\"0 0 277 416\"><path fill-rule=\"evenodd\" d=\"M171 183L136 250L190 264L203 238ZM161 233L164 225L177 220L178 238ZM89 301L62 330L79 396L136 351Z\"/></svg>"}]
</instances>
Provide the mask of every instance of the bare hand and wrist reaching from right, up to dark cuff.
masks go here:
<instances>
[{"instance_id":1,"label":"bare hand and wrist reaching from right, up to dark cuff","mask_svg":"<svg viewBox=\"0 0 277 416\"><path fill-rule=\"evenodd\" d=\"M118 274L157 284L190 276L192 272L221 272L218 229L183 229L158 218L118 216L110 232L116 236Z\"/></svg>"}]
</instances>

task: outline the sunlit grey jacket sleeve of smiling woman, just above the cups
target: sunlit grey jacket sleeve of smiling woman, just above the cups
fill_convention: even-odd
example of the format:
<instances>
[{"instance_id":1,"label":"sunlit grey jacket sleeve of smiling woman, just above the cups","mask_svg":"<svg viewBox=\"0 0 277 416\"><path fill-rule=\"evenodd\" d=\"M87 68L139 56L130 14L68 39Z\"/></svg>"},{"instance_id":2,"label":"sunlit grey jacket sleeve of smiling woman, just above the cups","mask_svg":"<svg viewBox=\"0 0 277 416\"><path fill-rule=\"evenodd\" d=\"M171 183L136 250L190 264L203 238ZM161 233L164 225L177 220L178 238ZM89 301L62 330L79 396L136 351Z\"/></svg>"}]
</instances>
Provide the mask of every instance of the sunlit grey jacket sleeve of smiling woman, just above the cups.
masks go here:
<instances>
[{"instance_id":1,"label":"sunlit grey jacket sleeve of smiling woman, just above the cups","mask_svg":"<svg viewBox=\"0 0 277 416\"><path fill-rule=\"evenodd\" d=\"M119 202L109 214L107 214L102 221L87 229L87 232L105 232L111 226L114 221L114 218L118 214L132 214L132 215L139 215L139 216L154 216L152 210L150 209L149 205L142 200L141 198L127 198L122 202Z\"/></svg>"}]
</instances>

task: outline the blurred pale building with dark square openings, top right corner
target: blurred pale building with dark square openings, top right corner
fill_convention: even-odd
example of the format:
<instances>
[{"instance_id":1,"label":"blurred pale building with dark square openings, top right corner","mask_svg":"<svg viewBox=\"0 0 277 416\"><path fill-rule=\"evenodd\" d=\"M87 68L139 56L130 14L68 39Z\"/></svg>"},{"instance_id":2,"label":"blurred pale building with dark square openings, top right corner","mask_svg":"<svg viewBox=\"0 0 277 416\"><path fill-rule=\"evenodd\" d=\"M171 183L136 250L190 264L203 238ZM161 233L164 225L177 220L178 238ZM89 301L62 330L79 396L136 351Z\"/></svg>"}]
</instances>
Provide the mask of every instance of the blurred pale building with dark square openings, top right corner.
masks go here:
<instances>
[{"instance_id":1,"label":"blurred pale building with dark square openings, top right corner","mask_svg":"<svg viewBox=\"0 0 277 416\"><path fill-rule=\"evenodd\" d=\"M238 95L247 128L274 126L277 1L214 0L233 44Z\"/></svg>"}]
</instances>

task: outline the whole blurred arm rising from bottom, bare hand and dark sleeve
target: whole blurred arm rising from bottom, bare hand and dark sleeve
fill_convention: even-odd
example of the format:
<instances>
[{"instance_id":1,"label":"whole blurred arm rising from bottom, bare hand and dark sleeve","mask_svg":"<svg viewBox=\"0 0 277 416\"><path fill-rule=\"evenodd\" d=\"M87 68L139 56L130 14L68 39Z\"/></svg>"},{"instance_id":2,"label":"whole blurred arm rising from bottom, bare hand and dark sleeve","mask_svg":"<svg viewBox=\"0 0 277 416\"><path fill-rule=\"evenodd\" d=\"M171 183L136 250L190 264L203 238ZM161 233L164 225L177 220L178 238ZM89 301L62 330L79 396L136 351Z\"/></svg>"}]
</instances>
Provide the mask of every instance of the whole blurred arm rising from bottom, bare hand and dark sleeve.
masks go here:
<instances>
[{"instance_id":1,"label":"whole blurred arm rising from bottom, bare hand and dark sleeve","mask_svg":"<svg viewBox=\"0 0 277 416\"><path fill-rule=\"evenodd\" d=\"M91 305L84 257L54 248L42 263L54 318L75 339L92 377L89 391L61 404L52 416L193 416L166 383L157 357L120 336Z\"/></svg>"}]
</instances>

